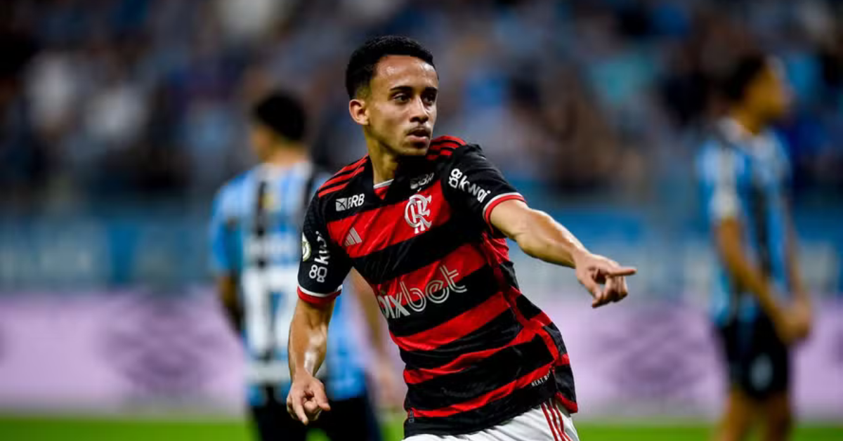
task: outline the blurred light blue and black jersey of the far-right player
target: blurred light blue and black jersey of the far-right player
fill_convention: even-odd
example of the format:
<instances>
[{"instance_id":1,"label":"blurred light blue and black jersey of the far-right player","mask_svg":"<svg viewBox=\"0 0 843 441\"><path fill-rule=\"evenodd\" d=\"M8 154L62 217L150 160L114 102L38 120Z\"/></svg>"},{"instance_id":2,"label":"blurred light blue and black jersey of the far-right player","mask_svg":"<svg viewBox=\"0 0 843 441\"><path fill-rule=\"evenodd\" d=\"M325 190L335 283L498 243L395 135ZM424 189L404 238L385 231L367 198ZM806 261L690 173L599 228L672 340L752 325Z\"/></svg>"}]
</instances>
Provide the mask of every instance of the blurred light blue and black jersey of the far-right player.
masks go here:
<instances>
[{"instance_id":1,"label":"blurred light blue and black jersey of the far-right player","mask_svg":"<svg viewBox=\"0 0 843 441\"><path fill-rule=\"evenodd\" d=\"M791 165L781 139L771 130L752 135L736 121L724 119L703 144L697 171L709 223L738 220L745 255L760 268L775 293L789 296L786 253ZM737 288L722 261L712 290L711 312L719 324L754 320L761 313L754 295Z\"/></svg>"}]
</instances>

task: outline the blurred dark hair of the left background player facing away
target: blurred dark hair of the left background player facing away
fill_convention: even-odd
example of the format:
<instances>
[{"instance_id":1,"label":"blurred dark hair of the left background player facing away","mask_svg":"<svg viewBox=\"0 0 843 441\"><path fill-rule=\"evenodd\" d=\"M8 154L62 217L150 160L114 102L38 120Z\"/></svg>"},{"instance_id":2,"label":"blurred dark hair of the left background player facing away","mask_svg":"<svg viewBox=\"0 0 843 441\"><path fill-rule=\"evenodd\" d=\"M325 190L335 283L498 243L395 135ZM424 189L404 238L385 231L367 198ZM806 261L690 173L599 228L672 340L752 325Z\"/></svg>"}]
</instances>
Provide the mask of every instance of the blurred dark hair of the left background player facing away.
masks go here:
<instances>
[{"instance_id":1,"label":"blurred dark hair of the left background player facing away","mask_svg":"<svg viewBox=\"0 0 843 441\"><path fill-rule=\"evenodd\" d=\"M303 105L298 99L281 91L273 92L255 103L252 118L293 143L303 139L307 125Z\"/></svg>"}]
</instances>

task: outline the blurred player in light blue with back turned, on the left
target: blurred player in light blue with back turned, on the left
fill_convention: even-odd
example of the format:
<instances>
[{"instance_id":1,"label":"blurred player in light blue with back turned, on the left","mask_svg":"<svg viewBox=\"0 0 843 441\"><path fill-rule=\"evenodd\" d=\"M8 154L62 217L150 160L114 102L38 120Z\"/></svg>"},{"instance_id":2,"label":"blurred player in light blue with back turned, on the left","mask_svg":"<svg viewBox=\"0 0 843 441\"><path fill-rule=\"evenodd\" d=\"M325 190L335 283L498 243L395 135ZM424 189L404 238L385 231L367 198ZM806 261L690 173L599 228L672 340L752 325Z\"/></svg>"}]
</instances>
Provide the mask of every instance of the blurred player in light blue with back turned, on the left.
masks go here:
<instances>
[{"instance_id":1,"label":"blurred player in light blue with back turned, on the left","mask_svg":"<svg viewBox=\"0 0 843 441\"><path fill-rule=\"evenodd\" d=\"M218 291L243 338L248 401L264 441L304 441L308 429L287 417L282 404L290 384L287 336L297 301L299 226L310 197L328 177L309 162L304 133L305 114L297 100L282 93L260 100L250 126L260 164L223 186L211 222ZM377 305L369 304L379 320ZM336 304L327 373L320 373L335 408L321 428L334 441L379 440L346 310Z\"/></svg>"}]
</instances>

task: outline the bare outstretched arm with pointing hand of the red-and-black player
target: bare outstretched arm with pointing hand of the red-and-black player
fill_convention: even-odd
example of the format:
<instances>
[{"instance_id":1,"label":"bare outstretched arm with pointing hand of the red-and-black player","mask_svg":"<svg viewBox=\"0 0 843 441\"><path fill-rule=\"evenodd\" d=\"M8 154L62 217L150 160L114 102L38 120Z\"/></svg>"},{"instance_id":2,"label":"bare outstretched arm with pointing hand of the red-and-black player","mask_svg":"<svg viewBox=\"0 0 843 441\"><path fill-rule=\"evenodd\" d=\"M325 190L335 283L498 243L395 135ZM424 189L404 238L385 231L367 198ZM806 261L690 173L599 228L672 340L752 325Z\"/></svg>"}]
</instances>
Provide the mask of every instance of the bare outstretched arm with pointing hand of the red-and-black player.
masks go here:
<instances>
[{"instance_id":1,"label":"bare outstretched arm with pointing hand of the red-and-black player","mask_svg":"<svg viewBox=\"0 0 843 441\"><path fill-rule=\"evenodd\" d=\"M547 213L534 210L522 201L510 200L492 209L489 222L517 242L527 255L574 268L577 280L593 296L594 308L626 297L624 277L635 274L636 269L620 266L602 255L591 254L570 231Z\"/></svg>"}]
</instances>

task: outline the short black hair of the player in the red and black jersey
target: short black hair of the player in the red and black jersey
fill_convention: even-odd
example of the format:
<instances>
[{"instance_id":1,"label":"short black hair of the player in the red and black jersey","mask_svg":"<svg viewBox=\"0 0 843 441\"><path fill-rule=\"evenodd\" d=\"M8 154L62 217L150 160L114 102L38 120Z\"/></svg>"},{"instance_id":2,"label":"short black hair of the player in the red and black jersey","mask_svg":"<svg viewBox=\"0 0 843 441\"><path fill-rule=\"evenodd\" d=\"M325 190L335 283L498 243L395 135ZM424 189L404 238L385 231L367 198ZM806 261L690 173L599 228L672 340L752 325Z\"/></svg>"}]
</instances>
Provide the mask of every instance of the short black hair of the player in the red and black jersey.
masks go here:
<instances>
[{"instance_id":1,"label":"short black hair of the player in the red and black jersey","mask_svg":"<svg viewBox=\"0 0 843 441\"><path fill-rule=\"evenodd\" d=\"M400 35L384 35L367 40L352 53L346 67L346 92L353 99L363 88L368 88L374 77L375 68L384 56L415 56L422 62L433 65L433 55L416 40Z\"/></svg>"}]
</instances>

